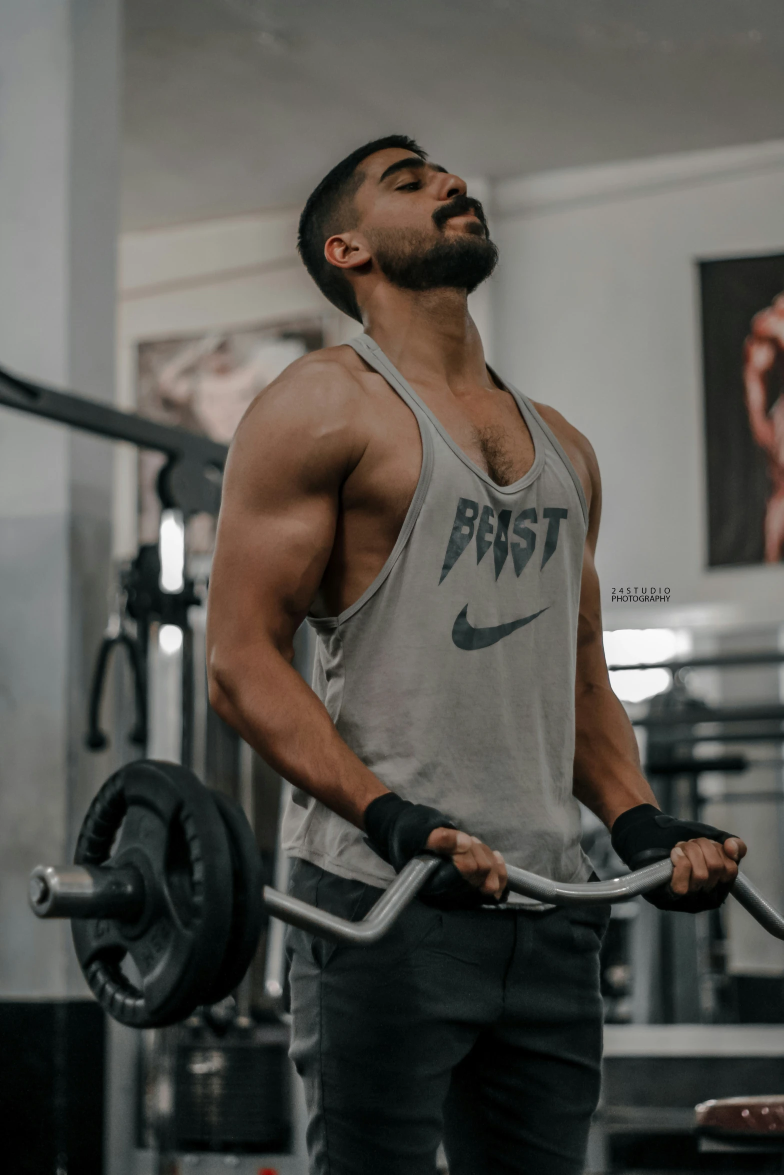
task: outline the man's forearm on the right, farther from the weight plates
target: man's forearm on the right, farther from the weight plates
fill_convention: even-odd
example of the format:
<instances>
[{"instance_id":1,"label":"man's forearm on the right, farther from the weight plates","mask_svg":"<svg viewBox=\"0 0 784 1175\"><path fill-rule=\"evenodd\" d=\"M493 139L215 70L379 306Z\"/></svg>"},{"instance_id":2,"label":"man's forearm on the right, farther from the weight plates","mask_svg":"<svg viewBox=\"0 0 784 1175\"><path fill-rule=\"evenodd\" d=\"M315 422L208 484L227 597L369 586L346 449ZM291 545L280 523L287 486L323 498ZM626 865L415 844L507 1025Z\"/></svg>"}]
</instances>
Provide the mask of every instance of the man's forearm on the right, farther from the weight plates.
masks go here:
<instances>
[{"instance_id":1,"label":"man's forearm on the right, farther from the weight plates","mask_svg":"<svg viewBox=\"0 0 784 1175\"><path fill-rule=\"evenodd\" d=\"M658 807L642 773L631 723L609 684L577 687L574 792L608 828L637 804Z\"/></svg>"}]
</instances>

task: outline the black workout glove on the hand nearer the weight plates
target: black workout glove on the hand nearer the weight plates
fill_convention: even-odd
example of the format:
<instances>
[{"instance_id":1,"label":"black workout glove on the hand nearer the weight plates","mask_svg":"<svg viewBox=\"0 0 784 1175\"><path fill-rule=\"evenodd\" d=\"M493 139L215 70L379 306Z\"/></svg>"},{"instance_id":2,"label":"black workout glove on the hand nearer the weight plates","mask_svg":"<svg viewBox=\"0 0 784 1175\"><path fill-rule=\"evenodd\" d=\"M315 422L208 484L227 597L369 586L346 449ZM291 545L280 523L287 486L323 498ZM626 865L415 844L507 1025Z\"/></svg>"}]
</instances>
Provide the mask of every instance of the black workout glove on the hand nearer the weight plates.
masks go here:
<instances>
[{"instance_id":1,"label":"black workout glove on the hand nearer the weight plates","mask_svg":"<svg viewBox=\"0 0 784 1175\"><path fill-rule=\"evenodd\" d=\"M457 826L437 808L411 804L394 792L386 792L371 800L364 810L366 840L378 857L383 857L396 873L417 853L425 852L428 837L436 828ZM417 898L440 909L467 909L495 902L470 885L450 860L431 873Z\"/></svg>"}]
</instances>

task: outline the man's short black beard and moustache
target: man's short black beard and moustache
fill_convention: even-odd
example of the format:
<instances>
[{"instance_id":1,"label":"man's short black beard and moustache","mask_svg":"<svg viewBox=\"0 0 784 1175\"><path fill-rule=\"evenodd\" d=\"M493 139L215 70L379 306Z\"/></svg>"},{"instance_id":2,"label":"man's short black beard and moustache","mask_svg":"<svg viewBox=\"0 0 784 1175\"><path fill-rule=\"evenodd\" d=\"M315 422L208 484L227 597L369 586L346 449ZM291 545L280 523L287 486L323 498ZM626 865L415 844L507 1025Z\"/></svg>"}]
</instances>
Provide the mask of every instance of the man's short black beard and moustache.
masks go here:
<instances>
[{"instance_id":1,"label":"man's short black beard and moustache","mask_svg":"<svg viewBox=\"0 0 784 1175\"><path fill-rule=\"evenodd\" d=\"M490 276L498 261L498 250L487 235L487 221L478 201L468 196L455 196L434 214L434 221L443 229L449 215L476 212L484 234L463 234L444 237L427 248L424 234L376 230L373 249L384 277L404 290L458 289L473 294Z\"/></svg>"}]
</instances>

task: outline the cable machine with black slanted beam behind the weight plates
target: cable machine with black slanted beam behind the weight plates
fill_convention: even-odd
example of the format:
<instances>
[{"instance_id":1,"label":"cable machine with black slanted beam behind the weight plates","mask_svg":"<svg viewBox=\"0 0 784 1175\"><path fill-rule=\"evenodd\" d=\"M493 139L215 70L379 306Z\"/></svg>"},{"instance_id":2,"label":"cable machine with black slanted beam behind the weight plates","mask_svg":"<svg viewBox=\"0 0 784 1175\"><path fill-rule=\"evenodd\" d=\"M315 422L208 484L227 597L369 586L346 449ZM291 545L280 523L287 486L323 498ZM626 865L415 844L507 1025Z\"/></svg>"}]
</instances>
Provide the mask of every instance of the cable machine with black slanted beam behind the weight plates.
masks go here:
<instances>
[{"instance_id":1,"label":"cable machine with black slanted beam behind the weight plates","mask_svg":"<svg viewBox=\"0 0 784 1175\"><path fill-rule=\"evenodd\" d=\"M86 744L98 751L109 741L101 713L103 694L114 659L125 656L134 717L126 728L112 732L115 741L127 740L132 758L181 763L239 800L256 831L264 881L284 888L287 861L276 852L282 784L209 706L206 582L188 576L186 560L188 519L197 513L217 516L227 446L2 368L0 405L165 454L156 481L159 542L142 545L120 571L116 605L95 659ZM307 676L307 636L300 634L296 645L295 665ZM177 1154L189 1152L201 1156L200 1170L212 1170L213 1153L215 1170L226 1169L229 1155L240 1175L246 1167L255 1175L260 1162L261 1169L275 1175L304 1171L302 1113L282 1015L282 926L269 920L267 925L272 934L268 942L262 934L259 965L252 966L233 998L210 1009L208 1019L196 1016L186 1025L145 1032L139 1055L126 1058L126 1067L132 1065L138 1076L134 1146L142 1154L136 1169L170 1175L179 1169ZM127 1082L127 1074L122 1080ZM107 1102L110 1133L112 1090Z\"/></svg>"}]
</instances>

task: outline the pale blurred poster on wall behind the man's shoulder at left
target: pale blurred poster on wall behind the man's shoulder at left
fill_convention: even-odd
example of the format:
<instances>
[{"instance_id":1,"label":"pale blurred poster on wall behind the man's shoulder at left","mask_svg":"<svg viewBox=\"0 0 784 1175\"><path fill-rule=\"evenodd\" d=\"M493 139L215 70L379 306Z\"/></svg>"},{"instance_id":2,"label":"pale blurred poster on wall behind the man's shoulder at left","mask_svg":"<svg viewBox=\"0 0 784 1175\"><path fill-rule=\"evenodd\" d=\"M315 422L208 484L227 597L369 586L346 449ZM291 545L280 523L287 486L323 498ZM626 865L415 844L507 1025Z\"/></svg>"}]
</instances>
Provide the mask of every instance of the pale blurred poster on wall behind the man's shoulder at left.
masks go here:
<instances>
[{"instance_id":1,"label":"pale blurred poster on wall behind the man's shoulder at left","mask_svg":"<svg viewBox=\"0 0 784 1175\"><path fill-rule=\"evenodd\" d=\"M323 345L320 320L209 331L138 344L139 411L228 444L252 400L307 351ZM139 542L156 543L160 503L155 479L165 457L139 454ZM214 521L188 526L188 549L208 553Z\"/></svg>"}]
</instances>

